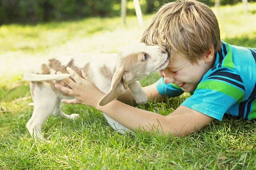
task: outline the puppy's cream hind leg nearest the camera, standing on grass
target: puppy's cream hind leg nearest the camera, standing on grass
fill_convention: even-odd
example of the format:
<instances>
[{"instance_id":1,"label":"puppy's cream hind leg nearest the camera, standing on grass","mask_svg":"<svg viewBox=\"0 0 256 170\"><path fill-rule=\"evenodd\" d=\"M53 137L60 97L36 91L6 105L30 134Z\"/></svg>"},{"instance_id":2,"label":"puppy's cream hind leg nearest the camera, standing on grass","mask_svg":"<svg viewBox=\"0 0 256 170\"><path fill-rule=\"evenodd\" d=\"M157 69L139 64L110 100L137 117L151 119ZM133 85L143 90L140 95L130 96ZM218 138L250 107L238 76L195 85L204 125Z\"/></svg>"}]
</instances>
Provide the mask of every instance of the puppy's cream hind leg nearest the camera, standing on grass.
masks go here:
<instances>
[{"instance_id":1,"label":"puppy's cream hind leg nearest the camera, standing on grass","mask_svg":"<svg viewBox=\"0 0 256 170\"><path fill-rule=\"evenodd\" d=\"M34 111L26 124L31 135L44 139L41 127L44 121L52 114L57 102L57 96L48 87L35 87L33 91Z\"/></svg>"}]
</instances>

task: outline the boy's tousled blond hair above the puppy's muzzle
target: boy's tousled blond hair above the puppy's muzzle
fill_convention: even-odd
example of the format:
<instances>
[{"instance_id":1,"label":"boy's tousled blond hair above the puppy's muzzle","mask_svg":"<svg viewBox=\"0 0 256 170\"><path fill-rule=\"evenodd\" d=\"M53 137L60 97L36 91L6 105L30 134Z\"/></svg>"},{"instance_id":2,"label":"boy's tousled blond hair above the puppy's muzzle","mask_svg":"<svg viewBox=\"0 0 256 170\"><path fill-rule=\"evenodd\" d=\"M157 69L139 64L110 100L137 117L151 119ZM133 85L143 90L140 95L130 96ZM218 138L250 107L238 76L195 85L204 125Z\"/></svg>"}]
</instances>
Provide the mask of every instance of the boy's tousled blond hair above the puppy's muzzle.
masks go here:
<instances>
[{"instance_id":1,"label":"boy's tousled blond hair above the puppy's muzzle","mask_svg":"<svg viewBox=\"0 0 256 170\"><path fill-rule=\"evenodd\" d=\"M164 45L170 57L181 52L192 63L213 48L221 48L220 30L213 11L196 0L166 3L145 30L141 42Z\"/></svg>"}]
</instances>

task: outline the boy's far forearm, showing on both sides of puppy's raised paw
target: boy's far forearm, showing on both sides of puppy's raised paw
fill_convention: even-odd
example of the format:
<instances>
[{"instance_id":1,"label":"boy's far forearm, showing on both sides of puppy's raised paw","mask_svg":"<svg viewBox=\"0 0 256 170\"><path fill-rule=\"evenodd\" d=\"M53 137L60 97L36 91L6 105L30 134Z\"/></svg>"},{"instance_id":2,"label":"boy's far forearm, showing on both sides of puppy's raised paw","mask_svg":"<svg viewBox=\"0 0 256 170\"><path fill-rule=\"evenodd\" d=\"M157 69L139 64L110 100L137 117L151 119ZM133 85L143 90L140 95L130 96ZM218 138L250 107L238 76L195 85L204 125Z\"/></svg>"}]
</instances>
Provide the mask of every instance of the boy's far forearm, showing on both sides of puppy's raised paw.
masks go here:
<instances>
[{"instance_id":1,"label":"boy's far forearm, showing on both sides of puppy's raised paw","mask_svg":"<svg viewBox=\"0 0 256 170\"><path fill-rule=\"evenodd\" d=\"M165 99L164 96L159 94L158 91L157 91L157 82L143 87L143 91L145 91L145 93L147 94L148 99L157 100L157 101ZM129 105L132 105L132 104L136 103L136 101L132 97L130 89L128 89L125 94L120 95L117 98L117 100L119 100L120 102L124 102L126 104L129 104Z\"/></svg>"}]
</instances>

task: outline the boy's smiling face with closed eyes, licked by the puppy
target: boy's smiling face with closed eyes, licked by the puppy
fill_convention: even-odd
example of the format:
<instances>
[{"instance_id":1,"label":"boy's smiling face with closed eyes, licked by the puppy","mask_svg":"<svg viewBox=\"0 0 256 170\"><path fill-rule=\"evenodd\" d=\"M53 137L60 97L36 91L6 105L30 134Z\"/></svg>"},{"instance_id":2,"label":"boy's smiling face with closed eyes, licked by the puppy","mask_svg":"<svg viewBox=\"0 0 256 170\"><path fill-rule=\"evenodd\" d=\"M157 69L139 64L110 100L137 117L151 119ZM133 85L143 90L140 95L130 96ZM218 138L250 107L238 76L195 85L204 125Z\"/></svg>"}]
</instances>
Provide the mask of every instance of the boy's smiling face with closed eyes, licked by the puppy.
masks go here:
<instances>
[{"instance_id":1,"label":"boy's smiling face with closed eyes, licked by the puppy","mask_svg":"<svg viewBox=\"0 0 256 170\"><path fill-rule=\"evenodd\" d=\"M160 75L164 78L166 84L173 83L182 88L183 91L191 92L195 90L204 74L213 67L213 64L214 59L212 53L198 60L198 64L192 64L186 59L185 55L175 53L169 65L160 71Z\"/></svg>"}]
</instances>

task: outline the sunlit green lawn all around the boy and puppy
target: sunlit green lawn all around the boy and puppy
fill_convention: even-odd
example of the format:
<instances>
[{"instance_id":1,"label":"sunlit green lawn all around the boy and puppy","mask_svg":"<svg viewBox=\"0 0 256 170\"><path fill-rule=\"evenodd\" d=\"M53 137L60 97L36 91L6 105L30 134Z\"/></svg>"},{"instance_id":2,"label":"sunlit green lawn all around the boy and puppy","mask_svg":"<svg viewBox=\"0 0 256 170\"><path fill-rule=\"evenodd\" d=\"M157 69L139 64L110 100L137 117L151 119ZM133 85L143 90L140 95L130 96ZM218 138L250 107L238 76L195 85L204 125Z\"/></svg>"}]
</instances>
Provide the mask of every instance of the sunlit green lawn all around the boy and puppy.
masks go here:
<instances>
[{"instance_id":1,"label":"sunlit green lawn all around the boy and puppy","mask_svg":"<svg viewBox=\"0 0 256 170\"><path fill-rule=\"evenodd\" d=\"M145 16L145 25L152 15ZM250 13L241 4L219 9L222 40L256 47L256 3ZM88 18L60 23L0 27L0 169L256 169L256 122L230 116L183 138L120 134L102 114L82 105L63 105L79 113L75 121L51 116L44 123L49 142L35 142L26 130L33 108L26 67L43 59L79 52L117 52L138 42L145 27L129 17ZM31 62L29 62L31 61ZM28 63L29 62L29 63ZM25 67L24 67L25 66ZM141 80L155 82L157 74ZM188 95L139 108L167 115Z\"/></svg>"}]
</instances>

